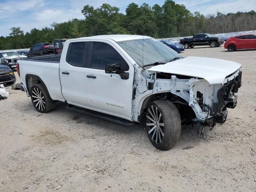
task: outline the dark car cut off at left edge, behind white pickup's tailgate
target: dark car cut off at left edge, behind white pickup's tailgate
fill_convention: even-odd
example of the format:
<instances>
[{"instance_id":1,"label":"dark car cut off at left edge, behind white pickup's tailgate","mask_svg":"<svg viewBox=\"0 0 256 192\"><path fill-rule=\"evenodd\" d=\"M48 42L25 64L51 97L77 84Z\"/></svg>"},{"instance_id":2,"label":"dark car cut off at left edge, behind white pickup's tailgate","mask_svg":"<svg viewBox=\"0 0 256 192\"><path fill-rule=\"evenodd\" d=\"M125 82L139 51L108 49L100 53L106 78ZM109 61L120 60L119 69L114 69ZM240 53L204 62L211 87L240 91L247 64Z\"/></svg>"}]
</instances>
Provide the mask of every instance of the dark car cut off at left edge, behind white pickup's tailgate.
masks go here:
<instances>
[{"instance_id":1,"label":"dark car cut off at left edge, behind white pickup's tailgate","mask_svg":"<svg viewBox=\"0 0 256 192\"><path fill-rule=\"evenodd\" d=\"M0 65L0 84L14 84L16 77L12 69L6 65Z\"/></svg>"}]
</instances>

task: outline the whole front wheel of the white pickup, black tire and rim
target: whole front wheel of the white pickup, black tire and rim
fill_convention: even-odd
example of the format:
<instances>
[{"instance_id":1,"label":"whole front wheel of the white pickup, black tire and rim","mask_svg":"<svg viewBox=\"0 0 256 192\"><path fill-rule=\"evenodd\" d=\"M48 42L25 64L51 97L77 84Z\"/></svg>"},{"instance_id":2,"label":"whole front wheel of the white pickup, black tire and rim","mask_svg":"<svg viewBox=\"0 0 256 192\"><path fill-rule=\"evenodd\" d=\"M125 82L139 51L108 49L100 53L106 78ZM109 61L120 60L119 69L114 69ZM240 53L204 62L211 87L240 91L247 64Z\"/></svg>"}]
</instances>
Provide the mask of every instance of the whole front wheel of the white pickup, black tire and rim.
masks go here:
<instances>
[{"instance_id":1,"label":"whole front wheel of the white pickup, black tire and rim","mask_svg":"<svg viewBox=\"0 0 256 192\"><path fill-rule=\"evenodd\" d=\"M180 138L180 113L172 102L155 100L147 109L146 126L150 142L159 150L169 150Z\"/></svg>"}]
</instances>

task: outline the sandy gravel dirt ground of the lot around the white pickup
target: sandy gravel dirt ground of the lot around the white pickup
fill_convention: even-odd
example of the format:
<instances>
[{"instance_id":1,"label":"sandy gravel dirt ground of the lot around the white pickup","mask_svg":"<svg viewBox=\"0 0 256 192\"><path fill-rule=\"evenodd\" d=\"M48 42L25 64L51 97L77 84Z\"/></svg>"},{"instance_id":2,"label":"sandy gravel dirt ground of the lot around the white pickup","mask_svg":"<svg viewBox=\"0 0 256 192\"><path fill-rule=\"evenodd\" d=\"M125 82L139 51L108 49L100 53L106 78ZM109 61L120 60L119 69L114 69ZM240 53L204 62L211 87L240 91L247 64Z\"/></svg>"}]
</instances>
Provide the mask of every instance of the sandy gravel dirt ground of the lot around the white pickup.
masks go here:
<instances>
[{"instance_id":1,"label":"sandy gravel dirt ground of the lot around the white pickup","mask_svg":"<svg viewBox=\"0 0 256 192\"><path fill-rule=\"evenodd\" d=\"M227 52L195 47L182 56L242 64L238 106L205 138L182 128L180 141L158 151L145 126L122 127L71 112L65 104L47 114L6 86L0 101L1 192L255 192L256 50ZM17 82L19 77L17 76ZM194 148L182 150L186 146Z\"/></svg>"}]
</instances>

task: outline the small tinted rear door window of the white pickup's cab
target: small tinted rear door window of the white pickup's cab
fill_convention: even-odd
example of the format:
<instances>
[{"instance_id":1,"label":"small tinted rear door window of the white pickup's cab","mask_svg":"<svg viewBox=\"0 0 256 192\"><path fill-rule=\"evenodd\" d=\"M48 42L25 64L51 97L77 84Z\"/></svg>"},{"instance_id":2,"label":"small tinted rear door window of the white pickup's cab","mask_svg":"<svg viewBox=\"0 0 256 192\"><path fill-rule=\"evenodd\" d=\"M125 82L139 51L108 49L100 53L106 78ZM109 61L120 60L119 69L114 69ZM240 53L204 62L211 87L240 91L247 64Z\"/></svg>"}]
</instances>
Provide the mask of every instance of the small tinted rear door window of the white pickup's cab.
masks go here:
<instances>
[{"instance_id":1,"label":"small tinted rear door window of the white pickup's cab","mask_svg":"<svg viewBox=\"0 0 256 192\"><path fill-rule=\"evenodd\" d=\"M78 66L78 67L85 67L86 66L86 59L85 59L85 42L80 43L72 43L70 47L70 55L67 58L67 62L71 65Z\"/></svg>"}]
</instances>

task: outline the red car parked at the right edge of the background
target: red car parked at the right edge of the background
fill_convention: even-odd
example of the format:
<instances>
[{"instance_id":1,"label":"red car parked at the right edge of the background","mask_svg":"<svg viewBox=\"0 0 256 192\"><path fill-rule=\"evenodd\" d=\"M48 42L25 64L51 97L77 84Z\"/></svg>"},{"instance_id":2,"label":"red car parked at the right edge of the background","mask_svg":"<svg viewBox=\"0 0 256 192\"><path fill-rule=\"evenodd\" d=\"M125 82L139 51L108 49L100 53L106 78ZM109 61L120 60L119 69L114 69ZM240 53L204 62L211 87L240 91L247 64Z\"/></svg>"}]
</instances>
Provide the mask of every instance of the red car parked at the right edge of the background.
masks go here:
<instances>
[{"instance_id":1,"label":"red car parked at the right edge of the background","mask_svg":"<svg viewBox=\"0 0 256 192\"><path fill-rule=\"evenodd\" d=\"M235 51L237 49L256 49L256 35L246 34L231 37L225 42L224 48L228 49L228 51Z\"/></svg>"}]
</instances>

